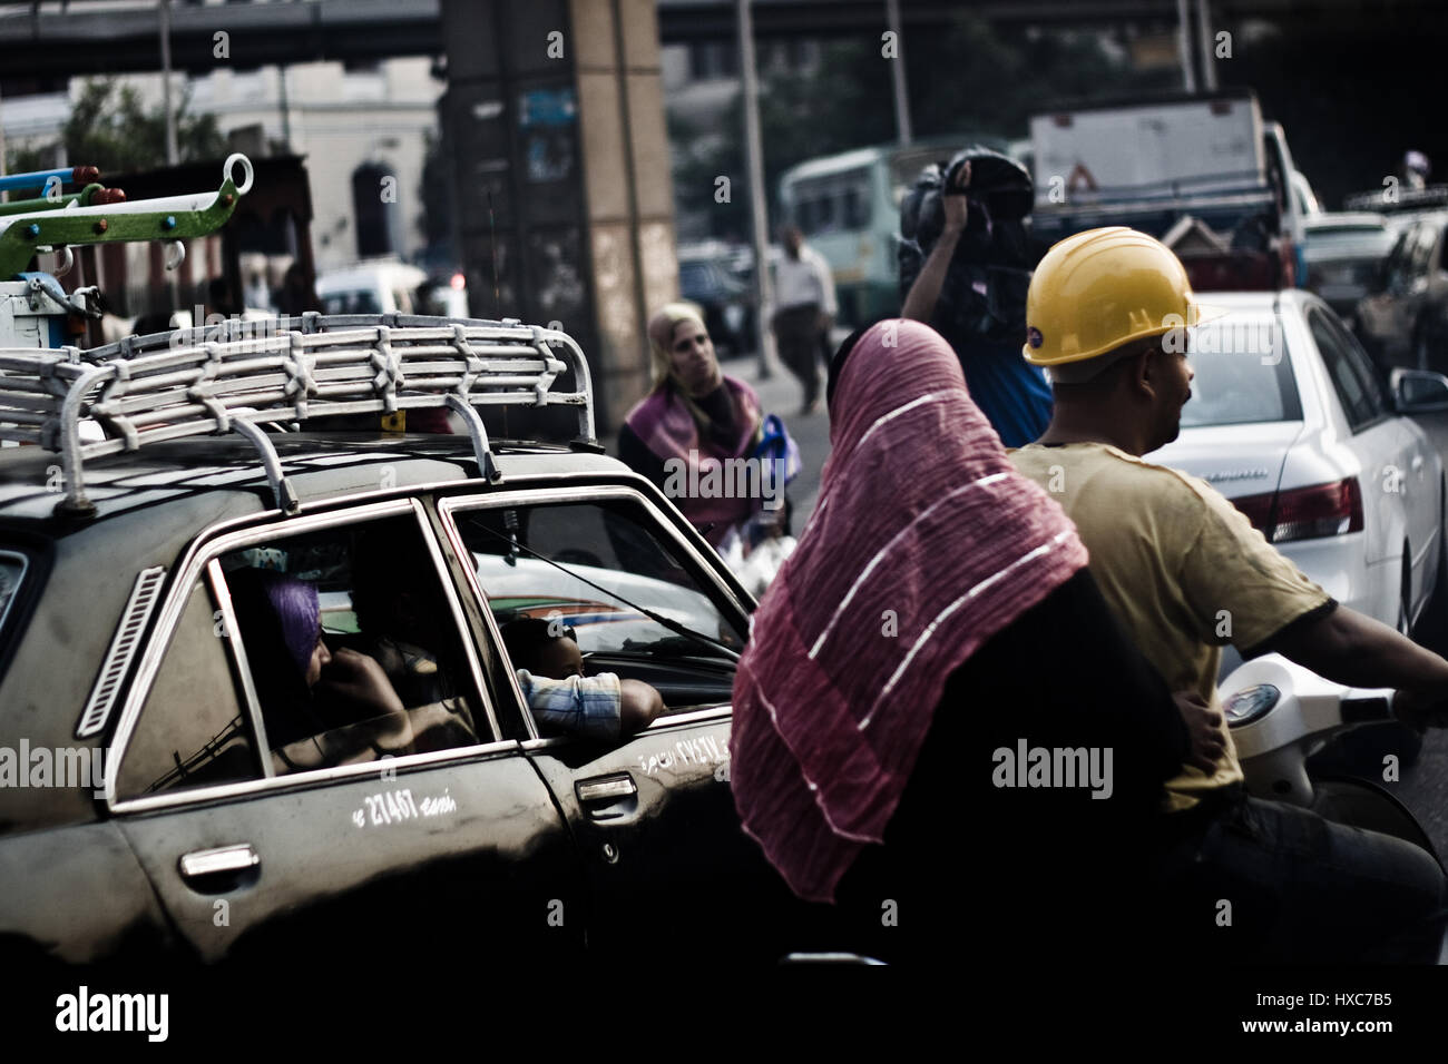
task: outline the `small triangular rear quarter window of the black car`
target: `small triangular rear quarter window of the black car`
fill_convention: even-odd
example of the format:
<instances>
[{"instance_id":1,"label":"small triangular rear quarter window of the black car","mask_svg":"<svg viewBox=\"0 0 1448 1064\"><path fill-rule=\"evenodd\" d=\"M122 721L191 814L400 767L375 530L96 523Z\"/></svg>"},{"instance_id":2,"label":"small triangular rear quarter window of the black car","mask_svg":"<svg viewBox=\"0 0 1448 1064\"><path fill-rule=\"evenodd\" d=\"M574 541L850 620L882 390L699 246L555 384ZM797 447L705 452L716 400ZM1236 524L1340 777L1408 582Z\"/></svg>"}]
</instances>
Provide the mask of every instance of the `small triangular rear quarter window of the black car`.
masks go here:
<instances>
[{"instance_id":1,"label":"small triangular rear quarter window of the black car","mask_svg":"<svg viewBox=\"0 0 1448 1064\"><path fill-rule=\"evenodd\" d=\"M206 582L198 580L126 747L116 777L117 796L142 798L259 777L243 706L222 612Z\"/></svg>"}]
</instances>

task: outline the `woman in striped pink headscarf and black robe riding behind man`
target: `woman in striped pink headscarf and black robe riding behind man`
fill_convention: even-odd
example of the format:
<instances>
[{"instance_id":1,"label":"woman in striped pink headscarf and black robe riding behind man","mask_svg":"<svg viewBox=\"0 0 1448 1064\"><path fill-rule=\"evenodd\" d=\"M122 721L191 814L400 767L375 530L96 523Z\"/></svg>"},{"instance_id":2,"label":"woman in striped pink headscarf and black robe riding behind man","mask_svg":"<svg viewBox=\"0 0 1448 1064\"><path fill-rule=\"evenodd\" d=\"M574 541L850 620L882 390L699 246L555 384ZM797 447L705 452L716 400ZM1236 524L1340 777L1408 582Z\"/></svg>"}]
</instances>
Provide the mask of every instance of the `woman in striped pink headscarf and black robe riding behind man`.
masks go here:
<instances>
[{"instance_id":1,"label":"woman in striped pink headscarf and black robe riding behind man","mask_svg":"<svg viewBox=\"0 0 1448 1064\"><path fill-rule=\"evenodd\" d=\"M886 960L1069 935L1102 896L1074 866L1129 863L1182 715L934 330L879 323L830 373L820 502L734 682L744 829ZM1111 747L1109 780L1034 789L1035 747Z\"/></svg>"}]
</instances>

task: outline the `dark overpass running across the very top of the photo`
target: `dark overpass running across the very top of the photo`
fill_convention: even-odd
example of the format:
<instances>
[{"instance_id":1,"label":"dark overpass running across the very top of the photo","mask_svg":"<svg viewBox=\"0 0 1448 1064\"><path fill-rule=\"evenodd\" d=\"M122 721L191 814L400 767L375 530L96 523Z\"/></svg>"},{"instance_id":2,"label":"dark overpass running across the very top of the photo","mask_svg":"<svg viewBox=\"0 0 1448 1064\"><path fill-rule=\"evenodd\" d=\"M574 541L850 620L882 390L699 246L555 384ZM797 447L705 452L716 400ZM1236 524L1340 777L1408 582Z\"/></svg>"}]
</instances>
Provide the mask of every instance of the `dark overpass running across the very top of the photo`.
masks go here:
<instances>
[{"instance_id":1,"label":"dark overpass running across the very top of the photo","mask_svg":"<svg viewBox=\"0 0 1448 1064\"><path fill-rule=\"evenodd\" d=\"M589 0L607 3L607 0ZM394 55L442 55L442 0L294 0L171 9L172 67L203 74L316 59L371 62ZM946 25L961 9L996 23L1089 26L1174 25L1176 0L901 0L905 32ZM885 0L754 0L759 38L876 33ZM1439 0L1212 0L1218 25L1247 17L1293 26L1374 26L1402 22L1415 32L1448 30ZM135 0L0 0L0 72L6 81L161 68L156 4ZM226 33L229 58L216 56ZM659 0L662 43L733 39L734 0Z\"/></svg>"}]
</instances>

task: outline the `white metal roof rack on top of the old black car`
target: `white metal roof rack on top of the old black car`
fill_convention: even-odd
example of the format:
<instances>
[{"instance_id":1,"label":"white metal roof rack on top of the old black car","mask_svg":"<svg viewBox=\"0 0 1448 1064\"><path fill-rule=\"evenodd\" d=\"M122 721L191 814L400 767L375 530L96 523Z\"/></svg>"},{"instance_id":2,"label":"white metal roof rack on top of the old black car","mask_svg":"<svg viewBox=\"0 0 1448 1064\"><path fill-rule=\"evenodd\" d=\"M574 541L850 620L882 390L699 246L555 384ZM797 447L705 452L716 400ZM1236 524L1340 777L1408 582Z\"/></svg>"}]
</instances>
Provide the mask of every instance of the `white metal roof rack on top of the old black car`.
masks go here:
<instances>
[{"instance_id":1,"label":"white metal roof rack on top of the old black car","mask_svg":"<svg viewBox=\"0 0 1448 1064\"><path fill-rule=\"evenodd\" d=\"M576 391L553 391L566 371ZM85 497L87 459L230 431L256 447L277 507L294 514L297 494L261 426L334 414L453 410L468 424L479 472L497 484L478 407L508 405L576 407L576 443L597 444L582 349L560 330L515 318L308 311L88 350L0 349L0 439L59 452L65 497L56 514L96 512Z\"/></svg>"}]
</instances>

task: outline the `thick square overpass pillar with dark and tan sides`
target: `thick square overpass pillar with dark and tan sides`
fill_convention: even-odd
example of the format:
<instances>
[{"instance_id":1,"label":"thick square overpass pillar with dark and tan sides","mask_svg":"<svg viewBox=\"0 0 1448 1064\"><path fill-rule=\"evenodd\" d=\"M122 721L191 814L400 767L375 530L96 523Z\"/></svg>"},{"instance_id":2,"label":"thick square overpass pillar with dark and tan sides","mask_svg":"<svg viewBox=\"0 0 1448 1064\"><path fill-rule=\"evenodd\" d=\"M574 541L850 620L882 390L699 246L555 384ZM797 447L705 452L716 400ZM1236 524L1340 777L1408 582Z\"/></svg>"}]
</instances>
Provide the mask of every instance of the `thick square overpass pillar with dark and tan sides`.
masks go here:
<instances>
[{"instance_id":1,"label":"thick square overpass pillar with dark and tan sides","mask_svg":"<svg viewBox=\"0 0 1448 1064\"><path fill-rule=\"evenodd\" d=\"M443 0L442 17L472 311L562 323L617 426L649 385L649 310L678 294L654 3Z\"/></svg>"}]
</instances>

